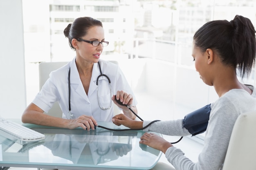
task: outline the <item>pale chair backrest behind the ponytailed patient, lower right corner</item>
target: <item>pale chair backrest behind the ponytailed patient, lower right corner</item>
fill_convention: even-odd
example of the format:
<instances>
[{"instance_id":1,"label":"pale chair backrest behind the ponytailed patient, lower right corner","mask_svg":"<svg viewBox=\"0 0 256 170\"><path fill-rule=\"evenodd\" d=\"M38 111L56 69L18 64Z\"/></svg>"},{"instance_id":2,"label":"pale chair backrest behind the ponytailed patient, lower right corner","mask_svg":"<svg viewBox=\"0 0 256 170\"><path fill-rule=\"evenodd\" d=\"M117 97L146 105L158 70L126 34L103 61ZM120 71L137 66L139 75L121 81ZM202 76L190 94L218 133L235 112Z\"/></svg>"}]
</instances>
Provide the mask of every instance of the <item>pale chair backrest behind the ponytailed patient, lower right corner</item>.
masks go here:
<instances>
[{"instance_id":1,"label":"pale chair backrest behind the ponytailed patient, lower right corner","mask_svg":"<svg viewBox=\"0 0 256 170\"><path fill-rule=\"evenodd\" d=\"M256 170L256 110L238 116L222 170Z\"/></svg>"}]
</instances>

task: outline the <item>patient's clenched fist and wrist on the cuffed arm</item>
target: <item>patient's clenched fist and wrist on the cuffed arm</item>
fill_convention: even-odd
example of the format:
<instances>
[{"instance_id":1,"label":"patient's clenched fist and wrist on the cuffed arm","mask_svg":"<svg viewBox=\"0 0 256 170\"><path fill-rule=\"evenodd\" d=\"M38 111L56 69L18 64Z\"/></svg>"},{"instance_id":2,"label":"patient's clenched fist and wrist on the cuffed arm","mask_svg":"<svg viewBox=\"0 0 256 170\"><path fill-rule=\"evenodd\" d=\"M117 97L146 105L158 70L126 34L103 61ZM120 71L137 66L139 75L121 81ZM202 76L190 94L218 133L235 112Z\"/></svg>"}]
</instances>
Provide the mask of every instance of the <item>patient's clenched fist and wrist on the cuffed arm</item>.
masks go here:
<instances>
[{"instance_id":1,"label":"patient's clenched fist and wrist on the cuffed arm","mask_svg":"<svg viewBox=\"0 0 256 170\"><path fill-rule=\"evenodd\" d=\"M124 125L128 128L138 129L143 127L143 121L132 120L124 114L115 115L112 122L117 125Z\"/></svg>"}]
</instances>

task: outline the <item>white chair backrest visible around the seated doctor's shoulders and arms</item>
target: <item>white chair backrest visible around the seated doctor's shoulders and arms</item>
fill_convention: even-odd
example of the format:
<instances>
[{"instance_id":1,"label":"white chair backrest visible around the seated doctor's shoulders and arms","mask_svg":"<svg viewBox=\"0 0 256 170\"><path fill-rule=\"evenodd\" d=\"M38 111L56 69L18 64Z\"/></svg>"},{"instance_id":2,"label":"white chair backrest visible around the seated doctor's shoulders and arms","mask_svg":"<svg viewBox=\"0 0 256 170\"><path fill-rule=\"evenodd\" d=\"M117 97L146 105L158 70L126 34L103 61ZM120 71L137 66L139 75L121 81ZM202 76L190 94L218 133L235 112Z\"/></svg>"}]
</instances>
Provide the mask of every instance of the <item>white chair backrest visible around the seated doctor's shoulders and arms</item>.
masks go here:
<instances>
[{"instance_id":1,"label":"white chair backrest visible around the seated doctor's shoulders and arms","mask_svg":"<svg viewBox=\"0 0 256 170\"><path fill-rule=\"evenodd\" d=\"M117 61L110 61L112 63L118 64ZM42 86L45 84L46 80L49 78L49 74L57 70L58 68L61 68L68 62L41 62L39 64L39 90L41 90ZM121 113L119 108L114 105L114 115L117 113ZM62 111L60 106L58 105L58 102L55 102L52 108L47 113L48 115L54 116L54 117L62 117Z\"/></svg>"}]
</instances>

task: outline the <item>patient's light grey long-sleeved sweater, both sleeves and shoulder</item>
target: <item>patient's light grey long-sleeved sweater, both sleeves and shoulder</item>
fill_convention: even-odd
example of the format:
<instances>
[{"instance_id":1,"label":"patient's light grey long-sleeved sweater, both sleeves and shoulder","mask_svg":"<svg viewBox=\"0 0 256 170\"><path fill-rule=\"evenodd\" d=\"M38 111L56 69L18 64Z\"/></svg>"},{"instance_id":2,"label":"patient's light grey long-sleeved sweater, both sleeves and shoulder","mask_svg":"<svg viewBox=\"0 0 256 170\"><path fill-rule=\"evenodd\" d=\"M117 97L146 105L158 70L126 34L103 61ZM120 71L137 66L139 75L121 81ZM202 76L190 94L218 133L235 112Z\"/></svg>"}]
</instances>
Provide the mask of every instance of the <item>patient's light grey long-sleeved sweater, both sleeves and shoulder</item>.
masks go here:
<instances>
[{"instance_id":1,"label":"patient's light grey long-sleeved sweater, both sleeves and shoulder","mask_svg":"<svg viewBox=\"0 0 256 170\"><path fill-rule=\"evenodd\" d=\"M256 90L252 86L248 87L253 90L252 95L242 89L232 89L211 104L204 147L198 156L198 162L192 162L178 148L170 147L166 150L165 156L176 170L222 169L231 132L238 115L250 110L256 110ZM143 126L146 126L149 122L144 121ZM188 130L183 128L182 119L158 121L145 130L172 136L190 135Z\"/></svg>"}]
</instances>

